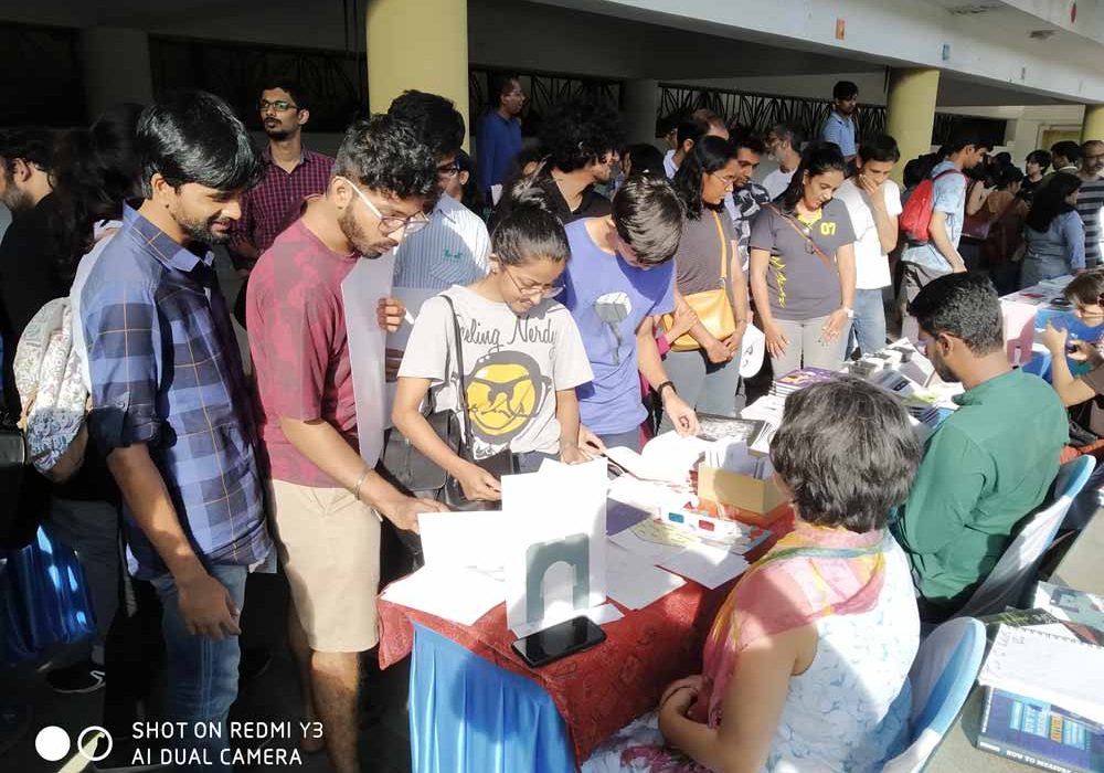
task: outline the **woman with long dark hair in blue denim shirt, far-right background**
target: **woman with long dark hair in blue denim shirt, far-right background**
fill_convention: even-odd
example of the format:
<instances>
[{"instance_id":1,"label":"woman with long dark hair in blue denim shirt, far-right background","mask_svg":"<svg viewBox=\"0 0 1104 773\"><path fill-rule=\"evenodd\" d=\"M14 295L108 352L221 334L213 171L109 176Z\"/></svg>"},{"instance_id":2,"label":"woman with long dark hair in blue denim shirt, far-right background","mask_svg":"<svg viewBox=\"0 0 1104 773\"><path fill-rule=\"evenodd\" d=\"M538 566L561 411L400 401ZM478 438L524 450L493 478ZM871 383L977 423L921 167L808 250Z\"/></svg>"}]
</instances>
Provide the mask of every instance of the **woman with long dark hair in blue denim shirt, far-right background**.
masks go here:
<instances>
[{"instance_id":1,"label":"woman with long dark hair in blue denim shirt, far-right background","mask_svg":"<svg viewBox=\"0 0 1104 773\"><path fill-rule=\"evenodd\" d=\"M1078 214L1081 178L1059 172L1040 188L1023 226L1020 287L1085 268L1085 225Z\"/></svg>"}]
</instances>

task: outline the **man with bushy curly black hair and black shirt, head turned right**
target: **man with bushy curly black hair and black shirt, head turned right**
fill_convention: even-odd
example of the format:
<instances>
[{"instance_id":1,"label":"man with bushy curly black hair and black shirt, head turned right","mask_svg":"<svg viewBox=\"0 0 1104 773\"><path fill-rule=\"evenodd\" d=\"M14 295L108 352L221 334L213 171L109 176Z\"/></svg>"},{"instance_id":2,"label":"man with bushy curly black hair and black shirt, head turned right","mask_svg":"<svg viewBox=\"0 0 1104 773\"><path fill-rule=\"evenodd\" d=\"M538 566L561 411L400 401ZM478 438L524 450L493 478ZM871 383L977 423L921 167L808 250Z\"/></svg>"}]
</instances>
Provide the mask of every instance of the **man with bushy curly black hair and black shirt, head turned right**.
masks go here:
<instances>
[{"instance_id":1,"label":"man with bushy curly black hair and black shirt, head turned right","mask_svg":"<svg viewBox=\"0 0 1104 773\"><path fill-rule=\"evenodd\" d=\"M541 127L541 144L548 158L537 173L535 184L544 191L549 208L560 220L566 225L583 218L608 215L609 199L594 188L608 184L620 165L625 131L617 112L583 99L556 105ZM512 199L502 197L496 221L510 211Z\"/></svg>"}]
</instances>

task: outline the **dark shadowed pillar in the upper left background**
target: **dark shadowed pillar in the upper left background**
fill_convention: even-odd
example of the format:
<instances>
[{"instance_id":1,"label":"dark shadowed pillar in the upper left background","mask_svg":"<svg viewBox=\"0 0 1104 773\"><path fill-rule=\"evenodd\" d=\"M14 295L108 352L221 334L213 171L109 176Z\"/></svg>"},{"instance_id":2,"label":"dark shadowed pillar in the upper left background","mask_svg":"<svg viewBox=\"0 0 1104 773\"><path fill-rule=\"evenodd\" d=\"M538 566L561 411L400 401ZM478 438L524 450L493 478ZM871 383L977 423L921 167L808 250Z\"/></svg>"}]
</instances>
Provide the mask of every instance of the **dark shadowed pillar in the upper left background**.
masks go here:
<instances>
[{"instance_id":1,"label":"dark shadowed pillar in the upper left background","mask_svg":"<svg viewBox=\"0 0 1104 773\"><path fill-rule=\"evenodd\" d=\"M92 27L81 30L81 72L88 120L112 105L153 102L149 36L142 30Z\"/></svg>"}]
</instances>

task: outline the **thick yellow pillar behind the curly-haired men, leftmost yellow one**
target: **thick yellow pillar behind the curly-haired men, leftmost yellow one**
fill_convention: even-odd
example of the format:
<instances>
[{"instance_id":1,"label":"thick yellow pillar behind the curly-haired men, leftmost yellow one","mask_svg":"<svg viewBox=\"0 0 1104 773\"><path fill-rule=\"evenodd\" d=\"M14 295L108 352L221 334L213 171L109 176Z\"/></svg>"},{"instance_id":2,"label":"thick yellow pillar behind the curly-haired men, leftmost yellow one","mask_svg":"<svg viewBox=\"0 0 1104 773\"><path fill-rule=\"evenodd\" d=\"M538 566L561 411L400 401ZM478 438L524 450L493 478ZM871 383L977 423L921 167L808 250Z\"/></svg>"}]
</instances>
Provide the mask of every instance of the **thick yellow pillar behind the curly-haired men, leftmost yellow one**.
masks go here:
<instances>
[{"instance_id":1,"label":"thick yellow pillar behind the curly-haired men, leftmost yellow one","mask_svg":"<svg viewBox=\"0 0 1104 773\"><path fill-rule=\"evenodd\" d=\"M365 18L372 113L416 88L452 99L470 134L467 0L370 0Z\"/></svg>"}]
</instances>

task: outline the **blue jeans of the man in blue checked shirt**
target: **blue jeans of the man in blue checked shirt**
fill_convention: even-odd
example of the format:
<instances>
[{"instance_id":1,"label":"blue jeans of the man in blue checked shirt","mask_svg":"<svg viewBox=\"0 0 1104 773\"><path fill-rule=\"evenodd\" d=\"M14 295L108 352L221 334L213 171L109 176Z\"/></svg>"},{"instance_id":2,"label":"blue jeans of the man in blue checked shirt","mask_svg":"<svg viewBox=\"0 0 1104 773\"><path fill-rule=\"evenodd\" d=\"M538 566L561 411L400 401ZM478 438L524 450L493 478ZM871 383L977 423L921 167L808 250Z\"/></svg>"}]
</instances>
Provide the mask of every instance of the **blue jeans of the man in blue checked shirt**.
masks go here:
<instances>
[{"instance_id":1,"label":"blue jeans of the man in blue checked shirt","mask_svg":"<svg viewBox=\"0 0 1104 773\"><path fill-rule=\"evenodd\" d=\"M250 572L246 566L211 566L208 570L215 580L230 591L234 605L241 611L245 606L245 580ZM162 574L153 580L153 586L163 607L161 632L169 663L169 716L173 721L185 722L187 731L197 723L215 723L222 728L219 733L205 733L205 738L194 738L190 732L182 741L172 744L177 749L199 750L209 764L178 765L178 771L222 771L230 773L231 765L223 764L222 752L230 748L230 729L226 714L237 698L237 661L241 650L236 636L227 636L221 642L209 636L192 636L184 627L177 605L177 583L171 574ZM227 756L229 762L229 756Z\"/></svg>"}]
</instances>

